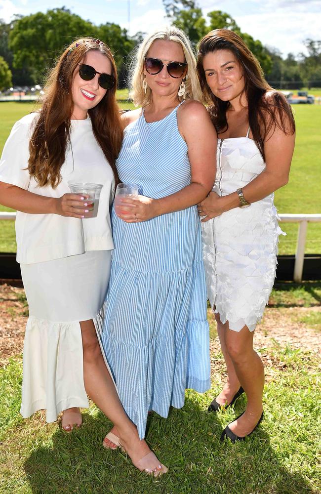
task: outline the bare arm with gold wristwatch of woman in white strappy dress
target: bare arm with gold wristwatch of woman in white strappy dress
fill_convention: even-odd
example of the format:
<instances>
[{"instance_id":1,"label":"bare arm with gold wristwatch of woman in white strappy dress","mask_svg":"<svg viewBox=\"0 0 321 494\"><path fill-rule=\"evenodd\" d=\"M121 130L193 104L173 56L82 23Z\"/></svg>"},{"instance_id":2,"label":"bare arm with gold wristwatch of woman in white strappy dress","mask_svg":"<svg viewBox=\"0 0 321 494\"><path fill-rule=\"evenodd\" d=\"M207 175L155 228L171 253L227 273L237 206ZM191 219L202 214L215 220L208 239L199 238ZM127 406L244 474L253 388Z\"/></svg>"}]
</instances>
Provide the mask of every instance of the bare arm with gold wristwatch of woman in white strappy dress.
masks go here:
<instances>
[{"instance_id":1,"label":"bare arm with gold wristwatch of woman in white strappy dress","mask_svg":"<svg viewBox=\"0 0 321 494\"><path fill-rule=\"evenodd\" d=\"M278 126L273 129L264 144L266 168L254 180L242 187L243 195L249 203L265 198L288 182L290 165L294 151L295 134L284 133ZM240 206L237 192L218 196L211 192L199 204L202 221L219 216L225 211Z\"/></svg>"}]
</instances>

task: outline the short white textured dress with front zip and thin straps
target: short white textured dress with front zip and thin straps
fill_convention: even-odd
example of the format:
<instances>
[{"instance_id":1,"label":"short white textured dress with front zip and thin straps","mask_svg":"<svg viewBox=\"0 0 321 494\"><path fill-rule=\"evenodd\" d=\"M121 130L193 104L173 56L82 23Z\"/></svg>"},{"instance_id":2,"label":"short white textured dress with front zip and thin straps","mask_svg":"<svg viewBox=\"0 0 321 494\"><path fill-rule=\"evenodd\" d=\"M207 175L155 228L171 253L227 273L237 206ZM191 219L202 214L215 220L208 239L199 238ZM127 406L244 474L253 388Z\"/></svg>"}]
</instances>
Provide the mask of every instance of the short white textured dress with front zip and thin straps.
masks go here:
<instances>
[{"instance_id":1,"label":"short white textured dress with front zip and thin straps","mask_svg":"<svg viewBox=\"0 0 321 494\"><path fill-rule=\"evenodd\" d=\"M218 139L213 191L226 196L256 178L265 163L248 137ZM273 287L279 235L274 193L235 207L202 225L207 295L223 324L254 331ZM284 235L284 234L283 234Z\"/></svg>"}]
</instances>

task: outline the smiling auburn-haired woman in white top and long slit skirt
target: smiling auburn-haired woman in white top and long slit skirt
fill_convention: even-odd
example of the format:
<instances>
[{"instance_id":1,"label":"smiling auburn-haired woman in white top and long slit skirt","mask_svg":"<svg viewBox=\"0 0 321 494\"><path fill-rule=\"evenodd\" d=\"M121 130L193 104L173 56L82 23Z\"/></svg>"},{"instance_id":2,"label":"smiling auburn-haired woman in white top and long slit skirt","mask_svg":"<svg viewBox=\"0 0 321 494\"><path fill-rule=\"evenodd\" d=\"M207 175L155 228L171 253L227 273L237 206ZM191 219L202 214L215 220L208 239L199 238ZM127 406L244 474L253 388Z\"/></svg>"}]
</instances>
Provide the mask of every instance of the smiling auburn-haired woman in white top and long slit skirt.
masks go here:
<instances>
[{"instance_id":1,"label":"smiling auburn-haired woman in white top and long slit skirt","mask_svg":"<svg viewBox=\"0 0 321 494\"><path fill-rule=\"evenodd\" d=\"M29 304L21 414L46 409L62 427L80 426L89 397L121 429L140 470L165 471L140 441L118 398L100 347L114 248L109 207L122 129L117 69L108 46L78 40L51 71L40 112L12 128L0 161L0 202L17 209L17 260ZM100 184L93 214L68 183ZM96 208L95 208L96 209Z\"/></svg>"}]
</instances>

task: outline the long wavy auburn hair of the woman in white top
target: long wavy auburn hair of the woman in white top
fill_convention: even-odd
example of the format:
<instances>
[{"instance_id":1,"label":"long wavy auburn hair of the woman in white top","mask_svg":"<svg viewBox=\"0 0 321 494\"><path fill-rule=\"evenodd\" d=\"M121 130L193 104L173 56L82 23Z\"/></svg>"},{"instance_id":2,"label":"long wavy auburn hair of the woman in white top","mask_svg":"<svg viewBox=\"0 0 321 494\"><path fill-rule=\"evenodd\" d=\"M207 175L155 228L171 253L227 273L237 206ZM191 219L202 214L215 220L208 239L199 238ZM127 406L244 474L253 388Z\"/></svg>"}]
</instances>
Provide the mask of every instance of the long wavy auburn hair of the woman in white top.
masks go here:
<instances>
[{"instance_id":1,"label":"long wavy auburn hair of the woman in white top","mask_svg":"<svg viewBox=\"0 0 321 494\"><path fill-rule=\"evenodd\" d=\"M60 170L70 142L74 71L91 50L99 51L108 58L116 80L114 87L106 92L98 105L88 110L88 115L95 138L113 170L115 182L119 182L115 161L120 152L122 127L116 101L117 68L112 52L105 43L81 38L66 48L50 71L42 108L29 142L28 170L40 187L50 185L56 188L61 181Z\"/></svg>"}]
</instances>

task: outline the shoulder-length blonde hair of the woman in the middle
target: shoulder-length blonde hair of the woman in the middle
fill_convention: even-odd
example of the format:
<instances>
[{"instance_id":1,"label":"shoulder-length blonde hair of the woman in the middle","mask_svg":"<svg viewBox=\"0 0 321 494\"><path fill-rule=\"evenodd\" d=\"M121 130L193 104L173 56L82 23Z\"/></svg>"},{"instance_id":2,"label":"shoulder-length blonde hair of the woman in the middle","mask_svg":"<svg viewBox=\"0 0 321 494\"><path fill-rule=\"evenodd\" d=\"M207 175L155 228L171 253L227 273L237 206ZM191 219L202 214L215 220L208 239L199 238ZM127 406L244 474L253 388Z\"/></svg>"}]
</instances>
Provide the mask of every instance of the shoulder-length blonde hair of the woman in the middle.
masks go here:
<instances>
[{"instance_id":1,"label":"shoulder-length blonde hair of the woman in the middle","mask_svg":"<svg viewBox=\"0 0 321 494\"><path fill-rule=\"evenodd\" d=\"M151 34L139 45L136 55L133 56L131 69L129 72L129 85L131 90L129 98L133 100L135 106L148 106L152 102L152 91L147 87L145 94L143 89L144 80L144 59L148 50L156 40L175 41L181 45L185 60L188 66L188 72L185 76L185 99L195 99L202 101L201 86L196 73L196 58L195 53L190 43L190 40L182 31L174 26L168 26L161 31L156 31ZM183 100L183 96L177 96L179 101Z\"/></svg>"}]
</instances>

